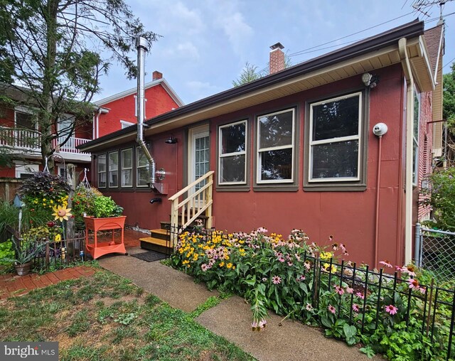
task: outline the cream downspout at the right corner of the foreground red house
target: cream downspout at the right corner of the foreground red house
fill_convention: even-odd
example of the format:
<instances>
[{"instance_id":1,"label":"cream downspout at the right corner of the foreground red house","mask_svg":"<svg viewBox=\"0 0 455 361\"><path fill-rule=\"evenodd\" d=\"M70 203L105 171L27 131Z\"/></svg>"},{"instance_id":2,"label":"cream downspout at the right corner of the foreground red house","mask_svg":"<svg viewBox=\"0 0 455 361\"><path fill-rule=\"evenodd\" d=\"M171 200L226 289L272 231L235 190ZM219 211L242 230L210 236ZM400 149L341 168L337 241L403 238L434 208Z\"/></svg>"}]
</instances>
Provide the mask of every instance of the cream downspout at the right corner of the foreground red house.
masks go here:
<instances>
[{"instance_id":1,"label":"cream downspout at the right corner of the foreground red house","mask_svg":"<svg viewBox=\"0 0 455 361\"><path fill-rule=\"evenodd\" d=\"M403 72L405 72L406 94L406 176L405 176L405 264L412 261L412 142L414 131L414 77L407 55L407 40L398 41Z\"/></svg>"}]
</instances>

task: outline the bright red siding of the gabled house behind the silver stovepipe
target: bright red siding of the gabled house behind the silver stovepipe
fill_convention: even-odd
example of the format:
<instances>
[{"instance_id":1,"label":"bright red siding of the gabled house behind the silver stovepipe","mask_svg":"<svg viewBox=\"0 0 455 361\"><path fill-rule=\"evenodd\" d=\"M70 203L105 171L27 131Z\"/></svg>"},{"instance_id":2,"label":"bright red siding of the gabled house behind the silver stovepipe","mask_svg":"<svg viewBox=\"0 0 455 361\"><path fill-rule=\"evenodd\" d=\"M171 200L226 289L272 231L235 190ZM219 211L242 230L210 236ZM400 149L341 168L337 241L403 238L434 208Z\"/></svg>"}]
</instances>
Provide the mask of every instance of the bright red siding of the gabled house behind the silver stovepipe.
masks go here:
<instances>
[{"instance_id":1,"label":"bright red siding of the gabled house behind the silver stovepipe","mask_svg":"<svg viewBox=\"0 0 455 361\"><path fill-rule=\"evenodd\" d=\"M161 84L146 89L145 97L147 99L145 103L147 118L156 117L159 114L178 108L178 104L168 95L168 92ZM100 114L98 136L104 136L122 129L120 120L137 123L136 114L134 114L136 109L136 98L134 95L128 95L127 97L102 104L102 107L109 109L109 112Z\"/></svg>"}]
</instances>

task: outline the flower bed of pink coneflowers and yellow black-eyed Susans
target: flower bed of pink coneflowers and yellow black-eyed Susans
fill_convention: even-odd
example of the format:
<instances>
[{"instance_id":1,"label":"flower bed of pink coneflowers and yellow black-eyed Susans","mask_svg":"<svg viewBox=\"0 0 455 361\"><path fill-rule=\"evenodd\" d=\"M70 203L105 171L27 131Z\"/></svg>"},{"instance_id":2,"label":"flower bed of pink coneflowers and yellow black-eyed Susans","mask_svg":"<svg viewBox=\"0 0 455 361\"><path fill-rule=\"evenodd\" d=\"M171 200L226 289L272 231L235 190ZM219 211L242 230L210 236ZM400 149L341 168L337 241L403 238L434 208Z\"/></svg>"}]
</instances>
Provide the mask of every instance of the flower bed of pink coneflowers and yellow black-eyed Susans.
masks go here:
<instances>
[{"instance_id":1,"label":"flower bed of pink coneflowers and yellow black-eyed Susans","mask_svg":"<svg viewBox=\"0 0 455 361\"><path fill-rule=\"evenodd\" d=\"M451 329L453 284L439 289L432 343L422 334L432 275L414 264L395 266L398 279L364 266L339 262L343 244L309 244L301 230L285 239L260 228L246 233L211 235L184 232L170 264L209 289L244 296L251 304L252 330L267 324L267 310L286 318L322 326L328 337L348 345L363 343L368 357L390 360L446 360ZM380 262L395 270L389 262ZM368 282L368 285L367 285ZM434 294L434 293L433 293ZM444 302L444 303L443 303Z\"/></svg>"}]
</instances>

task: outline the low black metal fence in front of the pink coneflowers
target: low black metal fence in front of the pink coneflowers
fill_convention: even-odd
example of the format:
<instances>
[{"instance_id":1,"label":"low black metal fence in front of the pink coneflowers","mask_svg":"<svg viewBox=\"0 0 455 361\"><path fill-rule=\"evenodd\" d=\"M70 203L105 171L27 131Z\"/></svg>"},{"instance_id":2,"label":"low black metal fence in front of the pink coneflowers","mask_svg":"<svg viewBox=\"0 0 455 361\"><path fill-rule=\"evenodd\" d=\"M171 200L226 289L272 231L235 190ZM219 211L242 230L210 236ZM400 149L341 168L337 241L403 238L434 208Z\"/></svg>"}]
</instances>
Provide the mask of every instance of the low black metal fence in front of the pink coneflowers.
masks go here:
<instances>
[{"instance_id":1,"label":"low black metal fence in front of the pink coneflowers","mask_svg":"<svg viewBox=\"0 0 455 361\"><path fill-rule=\"evenodd\" d=\"M213 240L213 235L220 236L198 228L185 231L202 233L204 242ZM174 248L181 234L181 229L169 230ZM310 300L314 319L323 327L331 325L324 323L319 311L327 307L324 299L331 297L336 320L355 325L360 335L374 335L378 328L385 333L414 333L422 343L419 360L455 360L454 283L441 284L427 278L427 284L419 284L421 280L414 275L417 269L412 266L392 269L387 265L378 271L368 265L321 258L321 254L309 252L304 252L301 262L311 265L304 274L308 294L305 300L299 300L302 311ZM400 323L400 328L394 328L395 323Z\"/></svg>"}]
</instances>

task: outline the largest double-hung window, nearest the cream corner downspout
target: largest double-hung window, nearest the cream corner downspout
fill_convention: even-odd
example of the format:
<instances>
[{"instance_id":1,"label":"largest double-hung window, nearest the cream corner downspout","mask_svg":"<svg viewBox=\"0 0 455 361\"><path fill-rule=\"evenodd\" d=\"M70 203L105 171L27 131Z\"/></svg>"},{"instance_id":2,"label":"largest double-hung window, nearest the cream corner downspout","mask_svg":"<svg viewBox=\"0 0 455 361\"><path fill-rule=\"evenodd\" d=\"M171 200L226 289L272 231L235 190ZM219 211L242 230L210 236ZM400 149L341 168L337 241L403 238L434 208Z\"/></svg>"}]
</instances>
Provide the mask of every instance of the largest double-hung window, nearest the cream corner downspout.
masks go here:
<instances>
[{"instance_id":1,"label":"largest double-hung window, nearest the cream corner downspout","mask_svg":"<svg viewBox=\"0 0 455 361\"><path fill-rule=\"evenodd\" d=\"M361 144L363 94L310 104L308 182L359 182L363 178Z\"/></svg>"}]
</instances>

